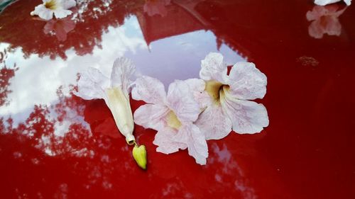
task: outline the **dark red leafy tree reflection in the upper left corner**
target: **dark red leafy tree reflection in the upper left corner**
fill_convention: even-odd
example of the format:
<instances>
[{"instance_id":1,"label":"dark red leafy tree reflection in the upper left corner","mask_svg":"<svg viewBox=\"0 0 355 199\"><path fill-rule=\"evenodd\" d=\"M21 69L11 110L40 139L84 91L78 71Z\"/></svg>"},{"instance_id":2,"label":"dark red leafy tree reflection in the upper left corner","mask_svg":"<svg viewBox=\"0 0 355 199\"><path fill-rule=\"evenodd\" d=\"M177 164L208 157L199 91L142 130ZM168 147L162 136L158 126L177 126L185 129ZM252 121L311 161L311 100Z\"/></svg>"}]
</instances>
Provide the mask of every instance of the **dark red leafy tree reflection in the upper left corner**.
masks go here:
<instances>
[{"instance_id":1,"label":"dark red leafy tree reflection in the upper left corner","mask_svg":"<svg viewBox=\"0 0 355 199\"><path fill-rule=\"evenodd\" d=\"M33 17L28 17L28 13L38 2L40 1L18 1L1 13L1 42L10 43L12 49L22 47L26 57L38 54L40 57L50 55L52 59L57 56L66 59L65 50L70 47L74 47L77 55L89 54L95 46L100 46L102 34L107 31L107 28L110 25L116 27L122 24L125 14L128 14L126 6L123 6L126 1L109 4L109 6L104 6L102 1L80 1L77 4L79 10L75 29L67 31L67 28L63 28L67 32L68 39L62 42L63 35L60 35L60 39L56 40L53 38L55 35L43 33L43 27L46 24L51 26L48 25L51 22L38 21ZM129 8L134 9L134 6ZM16 13L15 17L14 13ZM61 30L61 28L56 29L57 32ZM26 35L23 35L24 31L26 31Z\"/></svg>"}]
</instances>

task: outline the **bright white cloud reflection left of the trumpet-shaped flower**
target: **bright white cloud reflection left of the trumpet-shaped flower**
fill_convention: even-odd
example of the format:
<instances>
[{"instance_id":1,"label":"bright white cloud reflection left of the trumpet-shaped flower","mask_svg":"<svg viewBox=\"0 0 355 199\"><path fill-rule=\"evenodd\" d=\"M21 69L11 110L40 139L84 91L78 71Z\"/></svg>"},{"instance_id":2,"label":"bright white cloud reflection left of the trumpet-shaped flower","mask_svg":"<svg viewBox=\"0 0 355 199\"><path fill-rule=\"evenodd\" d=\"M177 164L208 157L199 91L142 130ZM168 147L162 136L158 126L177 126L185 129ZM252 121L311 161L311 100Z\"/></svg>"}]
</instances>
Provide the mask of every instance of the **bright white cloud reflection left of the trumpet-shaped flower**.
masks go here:
<instances>
[{"instance_id":1,"label":"bright white cloud reflection left of the trumpet-shaped flower","mask_svg":"<svg viewBox=\"0 0 355 199\"><path fill-rule=\"evenodd\" d=\"M126 24L120 28L109 28L102 35L102 48L95 47L92 55L77 56L74 50L67 50L67 60L50 57L40 58L31 55L28 59L23 58L20 49L10 52L6 63L11 66L16 62L19 67L9 89L13 91L8 95L9 106L0 109L0 117L12 115L15 123L21 122L31 113L34 105L50 105L58 101L56 91L59 86L67 87L75 84L77 73L87 67L97 67L102 72L109 74L114 59L124 55L126 51L134 52L139 48L146 47L142 36L129 35L127 28L135 28L130 24L138 24L136 18L128 18ZM5 44L1 44L4 47ZM64 94L69 93L69 91ZM23 115L23 113L27 113ZM18 120L19 119L19 120Z\"/></svg>"}]
</instances>

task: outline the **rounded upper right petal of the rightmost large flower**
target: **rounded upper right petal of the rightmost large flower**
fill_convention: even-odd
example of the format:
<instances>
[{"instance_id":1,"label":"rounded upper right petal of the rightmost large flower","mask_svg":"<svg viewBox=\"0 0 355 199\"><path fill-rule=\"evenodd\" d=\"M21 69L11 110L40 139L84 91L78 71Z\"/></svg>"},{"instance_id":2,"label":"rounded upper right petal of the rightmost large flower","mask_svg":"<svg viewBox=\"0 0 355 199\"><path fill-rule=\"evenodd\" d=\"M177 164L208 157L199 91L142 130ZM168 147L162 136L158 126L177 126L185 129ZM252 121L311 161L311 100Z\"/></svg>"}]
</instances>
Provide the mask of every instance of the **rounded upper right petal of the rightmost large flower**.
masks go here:
<instances>
[{"instance_id":1,"label":"rounded upper right petal of the rightmost large flower","mask_svg":"<svg viewBox=\"0 0 355 199\"><path fill-rule=\"evenodd\" d=\"M229 73L228 84L231 94L239 99L253 100L263 98L266 93L266 75L260 72L255 64L238 62Z\"/></svg>"}]
</instances>

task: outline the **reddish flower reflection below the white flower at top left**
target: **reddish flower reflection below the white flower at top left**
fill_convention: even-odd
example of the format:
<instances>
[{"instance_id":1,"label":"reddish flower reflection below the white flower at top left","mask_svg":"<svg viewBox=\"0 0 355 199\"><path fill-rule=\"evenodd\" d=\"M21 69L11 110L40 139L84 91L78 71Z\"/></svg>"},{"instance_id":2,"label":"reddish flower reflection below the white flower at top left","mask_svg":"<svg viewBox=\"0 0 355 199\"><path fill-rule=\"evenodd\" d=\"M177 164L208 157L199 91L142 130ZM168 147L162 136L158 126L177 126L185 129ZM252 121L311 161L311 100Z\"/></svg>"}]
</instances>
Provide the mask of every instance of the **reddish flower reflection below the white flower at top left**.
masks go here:
<instances>
[{"instance_id":1,"label":"reddish flower reflection below the white flower at top left","mask_svg":"<svg viewBox=\"0 0 355 199\"><path fill-rule=\"evenodd\" d=\"M43 28L43 33L54 33L58 40L67 40L67 33L74 30L75 22L70 17L62 19L51 19Z\"/></svg>"}]
</instances>

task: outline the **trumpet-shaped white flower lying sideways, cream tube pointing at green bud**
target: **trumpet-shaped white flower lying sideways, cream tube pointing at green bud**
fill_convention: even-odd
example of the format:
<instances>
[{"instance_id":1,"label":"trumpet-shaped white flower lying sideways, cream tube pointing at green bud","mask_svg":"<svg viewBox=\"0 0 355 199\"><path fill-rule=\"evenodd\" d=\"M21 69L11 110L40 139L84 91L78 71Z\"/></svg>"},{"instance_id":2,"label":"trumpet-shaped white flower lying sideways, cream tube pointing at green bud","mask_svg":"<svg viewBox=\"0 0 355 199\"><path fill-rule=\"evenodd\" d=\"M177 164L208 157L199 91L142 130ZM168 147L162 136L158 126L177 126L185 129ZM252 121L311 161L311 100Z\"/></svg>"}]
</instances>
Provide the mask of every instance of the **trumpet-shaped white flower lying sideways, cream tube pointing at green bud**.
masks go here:
<instances>
[{"instance_id":1,"label":"trumpet-shaped white flower lying sideways, cream tube pointing at green bud","mask_svg":"<svg viewBox=\"0 0 355 199\"><path fill-rule=\"evenodd\" d=\"M135 72L133 63L124 57L115 60L110 78L104 76L98 69L89 67L82 73L77 83L76 96L91 100L103 98L114 116L115 123L126 142L133 144L133 115L129 103L131 76Z\"/></svg>"}]
</instances>

